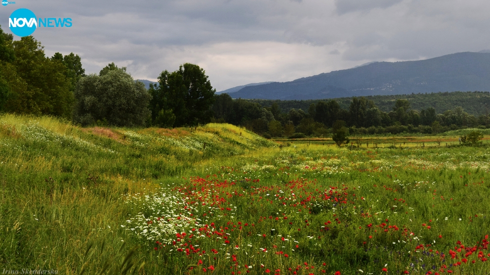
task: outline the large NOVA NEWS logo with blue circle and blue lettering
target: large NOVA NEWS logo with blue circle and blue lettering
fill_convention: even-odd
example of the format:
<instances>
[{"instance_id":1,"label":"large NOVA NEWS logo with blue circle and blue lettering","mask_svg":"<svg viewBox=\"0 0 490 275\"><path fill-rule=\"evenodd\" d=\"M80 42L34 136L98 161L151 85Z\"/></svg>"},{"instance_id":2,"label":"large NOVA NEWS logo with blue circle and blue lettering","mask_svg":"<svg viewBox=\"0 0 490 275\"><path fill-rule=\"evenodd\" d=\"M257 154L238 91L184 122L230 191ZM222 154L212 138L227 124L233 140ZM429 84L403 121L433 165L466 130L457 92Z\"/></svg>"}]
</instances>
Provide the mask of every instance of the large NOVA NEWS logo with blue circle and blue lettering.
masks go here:
<instances>
[{"instance_id":1,"label":"large NOVA NEWS logo with blue circle and blue lettering","mask_svg":"<svg viewBox=\"0 0 490 275\"><path fill-rule=\"evenodd\" d=\"M13 34L23 37L31 35L37 27L71 27L71 18L37 18L27 8L16 9L8 18L8 27Z\"/></svg>"}]
</instances>

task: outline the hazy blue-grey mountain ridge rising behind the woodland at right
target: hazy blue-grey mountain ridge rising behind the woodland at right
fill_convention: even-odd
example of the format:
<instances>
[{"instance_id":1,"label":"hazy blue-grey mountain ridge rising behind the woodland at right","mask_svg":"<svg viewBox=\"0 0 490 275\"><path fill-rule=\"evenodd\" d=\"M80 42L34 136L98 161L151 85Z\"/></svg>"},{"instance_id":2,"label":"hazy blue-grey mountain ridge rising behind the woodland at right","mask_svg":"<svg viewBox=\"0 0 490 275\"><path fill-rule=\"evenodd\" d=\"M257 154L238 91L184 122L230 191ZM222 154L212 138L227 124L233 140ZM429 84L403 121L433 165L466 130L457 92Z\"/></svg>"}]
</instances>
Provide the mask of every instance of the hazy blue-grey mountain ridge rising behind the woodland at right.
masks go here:
<instances>
[{"instance_id":1,"label":"hazy blue-grey mountain ridge rising behind the woodland at right","mask_svg":"<svg viewBox=\"0 0 490 275\"><path fill-rule=\"evenodd\" d=\"M490 53L483 51L459 52L417 61L374 62L289 82L245 86L228 93L233 98L307 100L488 90Z\"/></svg>"}]
</instances>

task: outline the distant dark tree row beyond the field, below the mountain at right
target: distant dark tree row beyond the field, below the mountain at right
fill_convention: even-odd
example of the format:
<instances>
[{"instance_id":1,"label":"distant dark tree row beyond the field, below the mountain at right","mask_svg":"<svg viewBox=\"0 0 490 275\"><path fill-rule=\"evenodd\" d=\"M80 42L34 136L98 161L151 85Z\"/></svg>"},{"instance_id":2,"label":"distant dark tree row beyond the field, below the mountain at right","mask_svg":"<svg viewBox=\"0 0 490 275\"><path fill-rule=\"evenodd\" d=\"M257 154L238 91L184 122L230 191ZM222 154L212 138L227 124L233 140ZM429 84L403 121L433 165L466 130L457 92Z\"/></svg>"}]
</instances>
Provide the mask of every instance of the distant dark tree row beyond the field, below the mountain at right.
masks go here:
<instances>
[{"instance_id":1,"label":"distant dark tree row beyond the field, below the mountain at right","mask_svg":"<svg viewBox=\"0 0 490 275\"><path fill-rule=\"evenodd\" d=\"M215 95L216 122L242 125L265 137L328 136L337 128L350 134L436 134L468 127L490 128L490 116L470 115L457 106L443 113L433 107L415 110L407 99L397 99L389 112L381 111L366 97L353 97L348 108L336 100L310 103L306 111L291 108L284 112L277 101L263 107L253 100L231 99L228 94Z\"/></svg>"}]
</instances>

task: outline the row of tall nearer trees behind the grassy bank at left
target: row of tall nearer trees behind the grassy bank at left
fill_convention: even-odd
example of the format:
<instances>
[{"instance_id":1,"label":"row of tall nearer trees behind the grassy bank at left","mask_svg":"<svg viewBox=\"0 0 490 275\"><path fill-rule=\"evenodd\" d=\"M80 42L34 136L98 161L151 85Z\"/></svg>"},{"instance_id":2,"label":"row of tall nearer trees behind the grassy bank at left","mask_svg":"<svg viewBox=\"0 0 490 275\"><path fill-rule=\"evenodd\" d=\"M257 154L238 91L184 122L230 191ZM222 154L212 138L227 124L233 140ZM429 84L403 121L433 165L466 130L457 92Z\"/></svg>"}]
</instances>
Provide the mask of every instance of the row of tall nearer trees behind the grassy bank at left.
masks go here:
<instances>
[{"instance_id":1,"label":"row of tall nearer trees behind the grassy bank at left","mask_svg":"<svg viewBox=\"0 0 490 275\"><path fill-rule=\"evenodd\" d=\"M45 56L32 36L0 27L0 112L52 115L82 126L195 126L211 121L215 89L198 65L164 70L147 90L113 62L85 74L77 54Z\"/></svg>"}]
</instances>

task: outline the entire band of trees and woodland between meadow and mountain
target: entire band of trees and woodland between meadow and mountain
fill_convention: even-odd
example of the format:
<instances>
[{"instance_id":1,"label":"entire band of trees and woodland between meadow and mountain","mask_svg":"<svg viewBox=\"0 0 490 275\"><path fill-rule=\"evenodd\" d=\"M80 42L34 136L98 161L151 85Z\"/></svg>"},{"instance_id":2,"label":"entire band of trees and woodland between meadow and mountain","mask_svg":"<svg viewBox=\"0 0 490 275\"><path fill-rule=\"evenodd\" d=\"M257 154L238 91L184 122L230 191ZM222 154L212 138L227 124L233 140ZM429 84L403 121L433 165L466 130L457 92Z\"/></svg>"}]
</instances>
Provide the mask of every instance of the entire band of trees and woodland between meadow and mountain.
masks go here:
<instances>
[{"instance_id":1,"label":"entire band of trees and woodland between meadow and mountain","mask_svg":"<svg viewBox=\"0 0 490 275\"><path fill-rule=\"evenodd\" d=\"M80 60L74 53L46 57L32 36L14 41L0 28L0 112L53 115L81 126L182 127L225 122L266 138L336 137L337 121L344 122L343 140L348 135L490 128L488 92L304 101L309 105L303 110L288 108L297 102L258 101L262 106L215 95L205 71L195 64L184 63L173 72L163 70L158 82L146 89L125 67L113 62L98 75L85 75Z\"/></svg>"}]
</instances>

